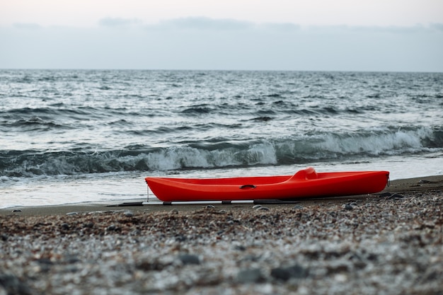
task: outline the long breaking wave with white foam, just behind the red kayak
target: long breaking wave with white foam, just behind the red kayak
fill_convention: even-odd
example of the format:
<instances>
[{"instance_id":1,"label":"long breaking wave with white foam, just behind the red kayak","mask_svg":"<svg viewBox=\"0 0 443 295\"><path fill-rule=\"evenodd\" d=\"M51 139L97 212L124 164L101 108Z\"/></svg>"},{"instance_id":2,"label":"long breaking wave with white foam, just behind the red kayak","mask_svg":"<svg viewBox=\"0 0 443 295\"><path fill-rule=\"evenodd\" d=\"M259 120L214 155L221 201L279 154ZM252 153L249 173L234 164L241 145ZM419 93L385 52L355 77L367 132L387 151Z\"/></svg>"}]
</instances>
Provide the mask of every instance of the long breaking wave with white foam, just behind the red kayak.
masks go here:
<instances>
[{"instance_id":1,"label":"long breaking wave with white foam, just behind the red kayak","mask_svg":"<svg viewBox=\"0 0 443 295\"><path fill-rule=\"evenodd\" d=\"M443 130L383 129L324 133L254 141L205 141L150 148L127 146L111 151L0 151L0 176L74 175L127 170L180 170L293 165L343 158L396 156L442 151Z\"/></svg>"}]
</instances>

